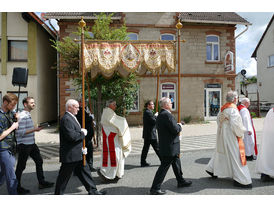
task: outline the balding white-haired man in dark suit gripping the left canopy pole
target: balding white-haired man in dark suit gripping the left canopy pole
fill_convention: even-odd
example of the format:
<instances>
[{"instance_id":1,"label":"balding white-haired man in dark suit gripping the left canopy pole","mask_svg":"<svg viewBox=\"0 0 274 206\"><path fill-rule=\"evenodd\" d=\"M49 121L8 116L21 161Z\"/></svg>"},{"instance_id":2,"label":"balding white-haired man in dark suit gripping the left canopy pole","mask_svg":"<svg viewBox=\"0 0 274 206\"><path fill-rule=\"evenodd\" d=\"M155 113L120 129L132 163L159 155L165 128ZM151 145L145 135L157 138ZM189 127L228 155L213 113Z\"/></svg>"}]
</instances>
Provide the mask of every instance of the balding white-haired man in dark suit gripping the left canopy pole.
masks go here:
<instances>
[{"instance_id":1,"label":"balding white-haired man in dark suit gripping the left canopy pole","mask_svg":"<svg viewBox=\"0 0 274 206\"><path fill-rule=\"evenodd\" d=\"M75 117L78 110L79 103L74 99L69 99L66 102L66 113L60 121L60 162L62 164L56 180L55 194L64 194L74 171L88 194L102 195L105 192L97 190L89 167L83 165L82 153L87 153L87 149L83 148L83 139L87 135L87 130L81 129L80 123Z\"/></svg>"}]
</instances>

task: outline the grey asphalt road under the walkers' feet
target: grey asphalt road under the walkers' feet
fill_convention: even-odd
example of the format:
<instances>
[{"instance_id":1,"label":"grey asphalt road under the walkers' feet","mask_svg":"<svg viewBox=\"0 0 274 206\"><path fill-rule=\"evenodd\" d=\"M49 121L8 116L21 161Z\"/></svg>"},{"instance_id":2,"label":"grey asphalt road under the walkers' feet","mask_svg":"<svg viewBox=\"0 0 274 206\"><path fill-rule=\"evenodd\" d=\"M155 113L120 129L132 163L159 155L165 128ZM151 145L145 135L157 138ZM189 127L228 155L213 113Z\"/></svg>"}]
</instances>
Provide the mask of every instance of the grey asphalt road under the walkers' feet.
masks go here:
<instances>
[{"instance_id":1,"label":"grey asphalt road under the walkers' feet","mask_svg":"<svg viewBox=\"0 0 274 206\"><path fill-rule=\"evenodd\" d=\"M200 150L183 152L181 162L183 174L186 179L191 180L192 186L178 189L172 168L169 169L162 185L167 195L273 195L274 182L262 183L259 174L255 173L255 161L248 162L251 173L253 188L241 189L233 186L230 178L211 179L205 173L205 166L208 163L213 150ZM140 155L130 155L126 159L125 175L118 183L102 183L96 172L92 173L94 181L99 190L106 190L108 195L147 195L151 187L154 175L160 161L153 153L148 155L147 161L151 166L140 167ZM95 167L99 166L99 158L95 158ZM44 160L44 171L46 180L55 182L60 163L57 158ZM28 160L27 168L22 176L22 186L31 190L30 195L52 195L54 188L39 190L32 160ZM0 195L6 195L6 186L0 187ZM87 192L77 177L72 176L67 189L67 195L85 195Z\"/></svg>"}]
</instances>

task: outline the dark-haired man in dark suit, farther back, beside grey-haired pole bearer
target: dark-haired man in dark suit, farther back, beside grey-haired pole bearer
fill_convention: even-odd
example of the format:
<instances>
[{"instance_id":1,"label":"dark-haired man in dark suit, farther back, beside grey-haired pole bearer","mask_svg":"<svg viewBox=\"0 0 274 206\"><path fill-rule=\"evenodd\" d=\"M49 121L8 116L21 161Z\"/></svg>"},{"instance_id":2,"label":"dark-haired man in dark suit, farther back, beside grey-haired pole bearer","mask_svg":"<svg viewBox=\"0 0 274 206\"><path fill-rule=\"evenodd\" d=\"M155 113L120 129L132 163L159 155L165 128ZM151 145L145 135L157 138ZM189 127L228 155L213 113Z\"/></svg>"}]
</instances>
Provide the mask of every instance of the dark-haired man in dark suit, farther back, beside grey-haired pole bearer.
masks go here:
<instances>
[{"instance_id":1,"label":"dark-haired man in dark suit, farther back, beside grey-haired pole bearer","mask_svg":"<svg viewBox=\"0 0 274 206\"><path fill-rule=\"evenodd\" d=\"M146 162L149 146L151 145L160 159L159 144L156 135L156 117L158 112L154 115L152 110L154 109L154 103L149 100L145 103L145 111L143 114L143 139L144 146L141 154L141 167L147 167L150 164Z\"/></svg>"}]
</instances>

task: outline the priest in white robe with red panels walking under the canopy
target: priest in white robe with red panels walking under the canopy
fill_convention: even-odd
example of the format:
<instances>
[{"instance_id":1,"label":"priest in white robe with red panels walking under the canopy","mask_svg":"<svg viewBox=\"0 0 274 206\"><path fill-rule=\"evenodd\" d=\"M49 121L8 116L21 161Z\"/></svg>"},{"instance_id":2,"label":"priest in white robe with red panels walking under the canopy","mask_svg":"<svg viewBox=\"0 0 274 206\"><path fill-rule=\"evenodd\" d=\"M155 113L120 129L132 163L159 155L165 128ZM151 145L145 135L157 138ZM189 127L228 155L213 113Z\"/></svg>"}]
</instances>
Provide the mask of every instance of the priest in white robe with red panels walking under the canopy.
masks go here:
<instances>
[{"instance_id":1,"label":"priest in white robe with red panels walking under the canopy","mask_svg":"<svg viewBox=\"0 0 274 206\"><path fill-rule=\"evenodd\" d=\"M116 102L109 100L101 117L103 148L98 175L105 181L119 180L124 175L125 158L131 151L127 121L116 115Z\"/></svg>"}]
</instances>

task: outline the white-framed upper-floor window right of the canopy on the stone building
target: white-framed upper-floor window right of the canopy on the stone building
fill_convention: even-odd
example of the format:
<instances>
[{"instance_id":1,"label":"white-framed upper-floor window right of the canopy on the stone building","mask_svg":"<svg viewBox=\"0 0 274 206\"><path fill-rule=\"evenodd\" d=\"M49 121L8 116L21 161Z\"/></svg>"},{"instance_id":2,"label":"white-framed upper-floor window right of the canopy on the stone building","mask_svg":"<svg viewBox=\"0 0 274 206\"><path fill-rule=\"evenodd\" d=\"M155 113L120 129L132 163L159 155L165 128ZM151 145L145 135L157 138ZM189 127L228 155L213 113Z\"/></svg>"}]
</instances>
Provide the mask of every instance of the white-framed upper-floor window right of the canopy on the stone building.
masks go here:
<instances>
[{"instance_id":1,"label":"white-framed upper-floor window right of the canopy on the stone building","mask_svg":"<svg viewBox=\"0 0 274 206\"><path fill-rule=\"evenodd\" d=\"M220 45L219 36L206 36L206 60L219 61L220 60Z\"/></svg>"}]
</instances>

